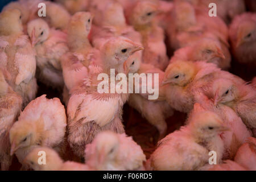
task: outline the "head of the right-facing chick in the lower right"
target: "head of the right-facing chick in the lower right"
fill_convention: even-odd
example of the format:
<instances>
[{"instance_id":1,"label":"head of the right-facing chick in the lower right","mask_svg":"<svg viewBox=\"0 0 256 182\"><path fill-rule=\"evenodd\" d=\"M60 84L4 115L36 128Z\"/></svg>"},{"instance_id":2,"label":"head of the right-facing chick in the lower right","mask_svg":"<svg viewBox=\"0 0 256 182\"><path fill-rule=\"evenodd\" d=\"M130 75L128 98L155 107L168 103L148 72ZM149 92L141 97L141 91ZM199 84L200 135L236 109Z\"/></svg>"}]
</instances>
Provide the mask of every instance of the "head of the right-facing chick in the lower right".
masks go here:
<instances>
[{"instance_id":1,"label":"head of the right-facing chick in the lower right","mask_svg":"<svg viewBox=\"0 0 256 182\"><path fill-rule=\"evenodd\" d=\"M199 104L194 105L194 110L190 119L192 133L200 138L214 137L229 130L216 113L202 109Z\"/></svg>"}]
</instances>

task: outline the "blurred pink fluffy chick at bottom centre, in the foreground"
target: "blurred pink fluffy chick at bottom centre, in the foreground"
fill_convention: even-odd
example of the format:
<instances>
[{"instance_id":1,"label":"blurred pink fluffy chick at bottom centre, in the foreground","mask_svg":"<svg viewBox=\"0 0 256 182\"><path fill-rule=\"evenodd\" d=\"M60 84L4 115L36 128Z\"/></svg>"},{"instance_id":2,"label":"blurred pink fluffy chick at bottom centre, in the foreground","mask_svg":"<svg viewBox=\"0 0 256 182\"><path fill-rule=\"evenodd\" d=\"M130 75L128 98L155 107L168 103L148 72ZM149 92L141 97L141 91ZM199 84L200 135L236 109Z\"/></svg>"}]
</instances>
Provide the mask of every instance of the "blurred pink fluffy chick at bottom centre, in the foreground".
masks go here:
<instances>
[{"instance_id":1,"label":"blurred pink fluffy chick at bottom centre, in the foreground","mask_svg":"<svg viewBox=\"0 0 256 182\"><path fill-rule=\"evenodd\" d=\"M85 158L88 166L100 171L143 170L146 161L141 146L131 137L111 131L99 133L86 145Z\"/></svg>"}]
</instances>

